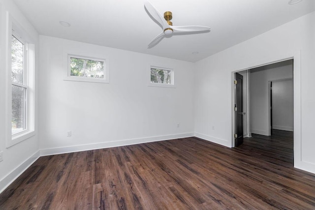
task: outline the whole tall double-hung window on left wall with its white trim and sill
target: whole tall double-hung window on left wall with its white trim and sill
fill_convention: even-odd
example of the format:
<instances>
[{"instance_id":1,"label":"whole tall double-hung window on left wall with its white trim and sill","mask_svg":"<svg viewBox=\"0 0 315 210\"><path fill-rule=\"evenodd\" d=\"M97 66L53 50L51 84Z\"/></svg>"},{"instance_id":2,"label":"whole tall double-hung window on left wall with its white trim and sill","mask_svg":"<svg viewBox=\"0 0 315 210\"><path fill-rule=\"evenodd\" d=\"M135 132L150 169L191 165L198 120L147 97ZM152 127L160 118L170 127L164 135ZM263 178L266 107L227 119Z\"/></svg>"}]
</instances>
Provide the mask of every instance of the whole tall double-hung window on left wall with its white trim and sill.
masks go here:
<instances>
[{"instance_id":1,"label":"whole tall double-hung window on left wall with its white trim and sill","mask_svg":"<svg viewBox=\"0 0 315 210\"><path fill-rule=\"evenodd\" d=\"M35 135L34 49L32 38L9 16L7 60L7 139L11 147ZM23 37L23 38L22 38ZM10 113L10 114L9 114Z\"/></svg>"}]
</instances>

